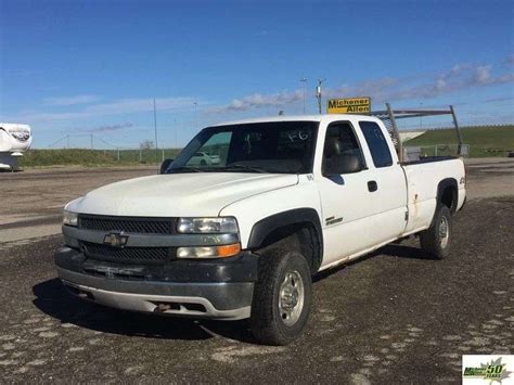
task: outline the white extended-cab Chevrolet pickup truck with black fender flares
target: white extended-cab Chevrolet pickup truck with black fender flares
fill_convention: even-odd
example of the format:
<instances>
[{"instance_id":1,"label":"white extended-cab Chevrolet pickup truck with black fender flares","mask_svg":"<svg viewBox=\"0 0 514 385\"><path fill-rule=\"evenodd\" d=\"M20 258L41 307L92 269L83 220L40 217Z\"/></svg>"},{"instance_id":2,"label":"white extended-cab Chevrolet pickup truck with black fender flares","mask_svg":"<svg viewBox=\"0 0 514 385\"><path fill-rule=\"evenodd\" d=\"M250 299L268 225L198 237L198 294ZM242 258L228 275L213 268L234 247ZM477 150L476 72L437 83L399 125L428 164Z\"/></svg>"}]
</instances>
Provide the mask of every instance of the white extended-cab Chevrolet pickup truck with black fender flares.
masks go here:
<instances>
[{"instance_id":1,"label":"white extended-cab Chevrolet pickup truck with black fender flares","mask_svg":"<svg viewBox=\"0 0 514 385\"><path fill-rule=\"evenodd\" d=\"M198 152L219 154L200 165ZM304 331L311 277L409 234L448 255L465 201L459 157L399 163L370 116L280 116L203 129L159 175L65 207L64 285L134 311L237 320L283 345Z\"/></svg>"}]
</instances>

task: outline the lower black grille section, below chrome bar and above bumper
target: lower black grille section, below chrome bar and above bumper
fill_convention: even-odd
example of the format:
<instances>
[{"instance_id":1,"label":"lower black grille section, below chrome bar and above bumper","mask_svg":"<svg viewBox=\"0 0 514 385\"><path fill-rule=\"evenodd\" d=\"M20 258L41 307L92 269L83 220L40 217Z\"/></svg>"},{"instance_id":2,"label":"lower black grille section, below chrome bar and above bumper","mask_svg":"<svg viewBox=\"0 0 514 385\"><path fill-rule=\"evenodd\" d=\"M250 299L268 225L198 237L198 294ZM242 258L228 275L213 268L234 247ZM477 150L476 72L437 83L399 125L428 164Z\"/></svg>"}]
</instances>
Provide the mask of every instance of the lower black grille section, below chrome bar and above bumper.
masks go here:
<instances>
[{"instance_id":1,"label":"lower black grille section, below chrome bar and above bumper","mask_svg":"<svg viewBox=\"0 0 514 385\"><path fill-rule=\"evenodd\" d=\"M126 264L165 264L171 258L170 247L126 247L115 248L91 242L80 242L87 257Z\"/></svg>"}]
</instances>

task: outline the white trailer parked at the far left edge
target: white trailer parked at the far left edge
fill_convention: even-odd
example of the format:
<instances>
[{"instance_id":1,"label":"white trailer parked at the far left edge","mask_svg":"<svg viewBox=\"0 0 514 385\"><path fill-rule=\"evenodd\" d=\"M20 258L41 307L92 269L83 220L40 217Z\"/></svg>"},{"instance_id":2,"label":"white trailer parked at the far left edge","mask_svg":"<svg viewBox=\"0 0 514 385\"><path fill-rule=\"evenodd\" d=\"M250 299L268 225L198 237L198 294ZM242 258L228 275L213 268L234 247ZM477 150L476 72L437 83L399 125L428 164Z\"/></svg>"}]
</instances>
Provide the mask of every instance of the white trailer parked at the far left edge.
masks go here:
<instances>
[{"instance_id":1,"label":"white trailer parked at the far left edge","mask_svg":"<svg viewBox=\"0 0 514 385\"><path fill-rule=\"evenodd\" d=\"M30 126L0 123L0 170L14 170L17 159L30 147L33 134Z\"/></svg>"}]
</instances>

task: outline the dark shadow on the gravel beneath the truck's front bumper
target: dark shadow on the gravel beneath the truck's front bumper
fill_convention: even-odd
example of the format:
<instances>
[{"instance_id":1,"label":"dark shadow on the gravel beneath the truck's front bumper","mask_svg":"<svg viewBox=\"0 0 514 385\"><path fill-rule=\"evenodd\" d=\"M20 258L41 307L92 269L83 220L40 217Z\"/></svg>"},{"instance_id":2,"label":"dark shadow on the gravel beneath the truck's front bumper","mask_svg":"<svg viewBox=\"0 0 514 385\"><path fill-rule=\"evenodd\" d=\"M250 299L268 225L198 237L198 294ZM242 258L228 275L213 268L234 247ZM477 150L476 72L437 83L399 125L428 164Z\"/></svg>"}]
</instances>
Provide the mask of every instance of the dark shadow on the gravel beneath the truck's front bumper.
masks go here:
<instances>
[{"instance_id":1,"label":"dark shadow on the gravel beneath the truck's front bumper","mask_svg":"<svg viewBox=\"0 0 514 385\"><path fill-rule=\"evenodd\" d=\"M102 333L178 341L223 336L255 343L247 321L192 320L111 309L74 297L56 278L33 286L33 293L34 305L46 315Z\"/></svg>"}]
</instances>

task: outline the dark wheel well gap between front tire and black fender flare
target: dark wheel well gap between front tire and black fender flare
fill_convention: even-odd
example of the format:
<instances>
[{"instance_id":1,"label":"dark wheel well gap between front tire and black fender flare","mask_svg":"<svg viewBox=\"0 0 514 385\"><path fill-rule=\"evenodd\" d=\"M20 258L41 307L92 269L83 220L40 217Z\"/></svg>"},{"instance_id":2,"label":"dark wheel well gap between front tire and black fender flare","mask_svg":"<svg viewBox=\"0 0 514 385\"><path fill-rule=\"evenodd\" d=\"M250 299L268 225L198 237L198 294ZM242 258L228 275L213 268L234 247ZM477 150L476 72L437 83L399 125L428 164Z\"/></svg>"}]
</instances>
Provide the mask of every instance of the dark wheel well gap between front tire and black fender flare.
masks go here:
<instances>
[{"instance_id":1,"label":"dark wheel well gap between front tire and black fender flare","mask_svg":"<svg viewBox=\"0 0 514 385\"><path fill-rule=\"evenodd\" d=\"M284 248L287 251L298 251L310 266L312 274L321 266L320 238L312 223L301 222L287 224L271 231L264 239L257 254L265 253L270 248Z\"/></svg>"}]
</instances>

